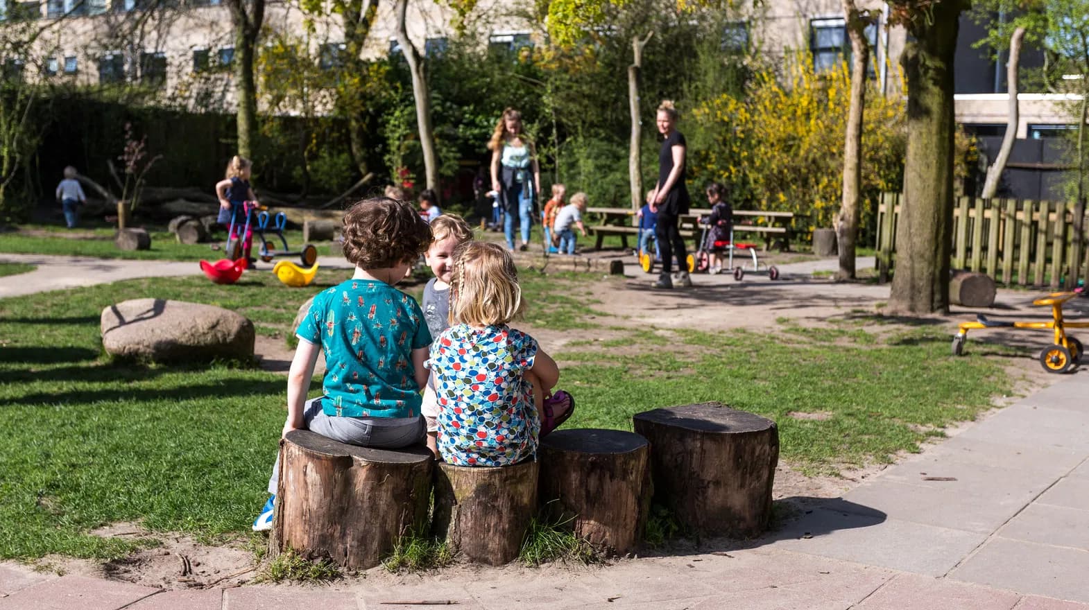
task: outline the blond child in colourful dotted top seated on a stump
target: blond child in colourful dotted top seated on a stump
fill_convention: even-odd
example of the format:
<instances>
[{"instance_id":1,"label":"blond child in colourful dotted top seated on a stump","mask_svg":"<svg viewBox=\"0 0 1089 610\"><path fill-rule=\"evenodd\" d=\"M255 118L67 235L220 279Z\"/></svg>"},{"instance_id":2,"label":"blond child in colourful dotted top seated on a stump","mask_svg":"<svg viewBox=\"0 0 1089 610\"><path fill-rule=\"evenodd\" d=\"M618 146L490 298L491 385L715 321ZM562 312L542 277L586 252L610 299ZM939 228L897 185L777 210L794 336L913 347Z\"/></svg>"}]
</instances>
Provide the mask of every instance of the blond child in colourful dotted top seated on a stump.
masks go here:
<instances>
[{"instance_id":1,"label":"blond child in colourful dotted top seated on a stump","mask_svg":"<svg viewBox=\"0 0 1089 610\"><path fill-rule=\"evenodd\" d=\"M575 409L549 393L560 370L537 341L507 324L525 309L517 269L498 244L457 248L451 276L452 326L431 344L438 430L428 446L462 466L515 464ZM426 400L426 399L425 399Z\"/></svg>"}]
</instances>

